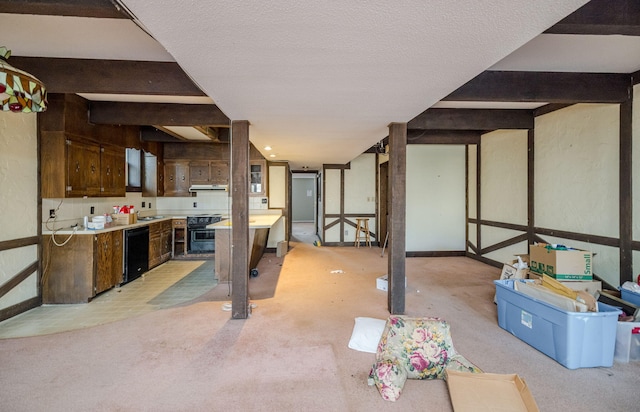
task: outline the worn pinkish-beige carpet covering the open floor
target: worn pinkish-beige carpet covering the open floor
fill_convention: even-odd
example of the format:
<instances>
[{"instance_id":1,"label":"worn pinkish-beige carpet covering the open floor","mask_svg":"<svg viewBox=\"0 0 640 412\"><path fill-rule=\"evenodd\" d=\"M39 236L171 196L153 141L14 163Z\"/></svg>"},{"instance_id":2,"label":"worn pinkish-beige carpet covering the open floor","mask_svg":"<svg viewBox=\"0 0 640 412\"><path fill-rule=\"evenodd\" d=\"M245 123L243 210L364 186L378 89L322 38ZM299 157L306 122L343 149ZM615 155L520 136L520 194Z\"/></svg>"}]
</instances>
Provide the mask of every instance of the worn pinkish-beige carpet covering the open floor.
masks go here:
<instances>
[{"instance_id":1,"label":"worn pinkish-beige carpet covering the open floor","mask_svg":"<svg viewBox=\"0 0 640 412\"><path fill-rule=\"evenodd\" d=\"M367 386L374 355L347 347L354 318L385 319L379 248L293 243L250 279L247 320L228 285L179 307L94 328L0 341L0 409L11 411L450 411L446 383L408 381L395 403ZM343 273L331 273L341 270ZM407 259L407 311L451 324L458 352L518 373L542 411L631 411L639 363L568 370L500 329L491 281L467 258Z\"/></svg>"}]
</instances>

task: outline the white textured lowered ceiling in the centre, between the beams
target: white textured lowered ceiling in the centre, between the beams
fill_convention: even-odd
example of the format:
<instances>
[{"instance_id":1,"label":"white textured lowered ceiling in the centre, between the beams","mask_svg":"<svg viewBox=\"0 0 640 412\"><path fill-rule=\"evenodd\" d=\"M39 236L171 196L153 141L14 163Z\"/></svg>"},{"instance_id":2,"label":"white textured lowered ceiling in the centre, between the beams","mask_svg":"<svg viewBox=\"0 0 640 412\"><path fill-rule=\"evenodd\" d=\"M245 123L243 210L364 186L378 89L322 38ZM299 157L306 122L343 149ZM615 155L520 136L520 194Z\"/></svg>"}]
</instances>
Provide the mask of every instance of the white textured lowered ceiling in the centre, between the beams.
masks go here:
<instances>
[{"instance_id":1,"label":"white textured lowered ceiling in the centre, between the beams","mask_svg":"<svg viewBox=\"0 0 640 412\"><path fill-rule=\"evenodd\" d=\"M352 160L586 1L123 3L295 168Z\"/></svg>"}]
</instances>

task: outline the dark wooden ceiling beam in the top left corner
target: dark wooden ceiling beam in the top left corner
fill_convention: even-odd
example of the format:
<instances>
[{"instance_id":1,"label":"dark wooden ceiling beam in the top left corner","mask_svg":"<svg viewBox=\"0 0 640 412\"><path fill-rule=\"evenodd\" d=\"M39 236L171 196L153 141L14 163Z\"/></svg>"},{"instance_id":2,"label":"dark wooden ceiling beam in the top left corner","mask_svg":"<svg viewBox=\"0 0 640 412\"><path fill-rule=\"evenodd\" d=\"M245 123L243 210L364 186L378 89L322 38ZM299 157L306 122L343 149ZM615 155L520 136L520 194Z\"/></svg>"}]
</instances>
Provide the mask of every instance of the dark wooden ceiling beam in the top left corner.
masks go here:
<instances>
[{"instance_id":1,"label":"dark wooden ceiling beam in the top left corner","mask_svg":"<svg viewBox=\"0 0 640 412\"><path fill-rule=\"evenodd\" d=\"M11 14L127 19L129 16L111 0L2 0L0 10Z\"/></svg>"}]
</instances>

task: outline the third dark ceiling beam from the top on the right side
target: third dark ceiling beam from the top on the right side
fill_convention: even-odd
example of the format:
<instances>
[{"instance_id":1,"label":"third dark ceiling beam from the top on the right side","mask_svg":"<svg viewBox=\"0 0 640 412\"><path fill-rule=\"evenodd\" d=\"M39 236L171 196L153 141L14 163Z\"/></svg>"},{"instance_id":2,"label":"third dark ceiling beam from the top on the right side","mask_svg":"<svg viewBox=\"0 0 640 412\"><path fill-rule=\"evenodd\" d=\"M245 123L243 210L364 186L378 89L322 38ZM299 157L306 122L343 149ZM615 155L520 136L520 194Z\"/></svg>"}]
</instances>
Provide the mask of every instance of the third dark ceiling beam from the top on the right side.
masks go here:
<instances>
[{"instance_id":1,"label":"third dark ceiling beam from the top on the right side","mask_svg":"<svg viewBox=\"0 0 640 412\"><path fill-rule=\"evenodd\" d=\"M414 117L408 129L496 130L531 129L531 110L516 109L427 109Z\"/></svg>"}]
</instances>

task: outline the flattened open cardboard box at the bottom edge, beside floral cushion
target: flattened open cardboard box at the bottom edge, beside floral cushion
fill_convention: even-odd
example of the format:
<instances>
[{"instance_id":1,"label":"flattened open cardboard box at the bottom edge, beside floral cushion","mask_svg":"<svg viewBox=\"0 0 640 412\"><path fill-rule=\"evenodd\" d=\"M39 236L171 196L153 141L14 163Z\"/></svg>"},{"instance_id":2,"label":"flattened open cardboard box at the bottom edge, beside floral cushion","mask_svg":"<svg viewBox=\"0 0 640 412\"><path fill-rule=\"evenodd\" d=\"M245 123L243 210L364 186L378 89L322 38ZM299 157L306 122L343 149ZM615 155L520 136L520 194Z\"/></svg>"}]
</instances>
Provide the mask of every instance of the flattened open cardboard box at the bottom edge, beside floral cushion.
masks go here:
<instances>
[{"instance_id":1,"label":"flattened open cardboard box at the bottom edge, beside floral cushion","mask_svg":"<svg viewBox=\"0 0 640 412\"><path fill-rule=\"evenodd\" d=\"M455 412L539 411L524 379L518 375L446 371Z\"/></svg>"}]
</instances>

